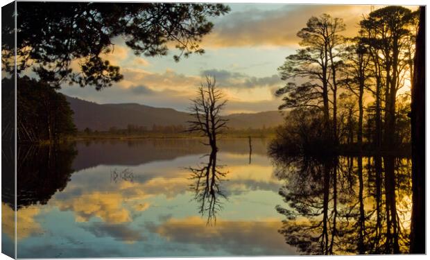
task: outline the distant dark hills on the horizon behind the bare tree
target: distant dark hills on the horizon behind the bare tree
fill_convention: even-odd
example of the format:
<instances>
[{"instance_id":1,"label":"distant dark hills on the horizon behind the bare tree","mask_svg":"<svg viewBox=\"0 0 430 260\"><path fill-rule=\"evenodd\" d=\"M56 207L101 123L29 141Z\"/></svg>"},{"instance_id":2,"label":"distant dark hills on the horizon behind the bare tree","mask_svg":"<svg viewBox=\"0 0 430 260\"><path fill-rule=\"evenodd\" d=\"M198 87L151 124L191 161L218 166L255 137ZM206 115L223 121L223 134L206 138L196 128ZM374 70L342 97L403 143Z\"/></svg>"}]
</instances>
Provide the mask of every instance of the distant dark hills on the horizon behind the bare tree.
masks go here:
<instances>
[{"instance_id":1,"label":"distant dark hills on the horizon behind the bare tree","mask_svg":"<svg viewBox=\"0 0 430 260\"><path fill-rule=\"evenodd\" d=\"M112 127L126 129L129 124L151 129L153 125L187 125L187 121L191 119L188 113L172 108L137 103L98 104L70 96L66 98L74 111L74 122L78 130L91 128L104 131ZM282 114L277 111L230 114L224 117L229 119L228 125L234 129L269 128L283 121Z\"/></svg>"}]
</instances>

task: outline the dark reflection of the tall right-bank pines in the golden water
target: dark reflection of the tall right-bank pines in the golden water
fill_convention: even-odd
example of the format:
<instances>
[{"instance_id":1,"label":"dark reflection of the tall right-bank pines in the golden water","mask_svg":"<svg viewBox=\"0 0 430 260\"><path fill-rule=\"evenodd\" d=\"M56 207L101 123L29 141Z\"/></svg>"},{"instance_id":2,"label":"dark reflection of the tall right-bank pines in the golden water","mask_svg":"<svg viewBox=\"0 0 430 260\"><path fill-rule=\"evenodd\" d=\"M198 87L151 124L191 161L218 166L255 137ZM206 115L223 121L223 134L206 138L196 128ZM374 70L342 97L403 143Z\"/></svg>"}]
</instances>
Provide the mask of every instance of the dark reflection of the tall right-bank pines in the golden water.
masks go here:
<instances>
[{"instance_id":1,"label":"dark reflection of the tall right-bank pines in the golden water","mask_svg":"<svg viewBox=\"0 0 430 260\"><path fill-rule=\"evenodd\" d=\"M408 252L411 162L397 157L276 157L286 216L279 233L303 254Z\"/></svg>"}]
</instances>

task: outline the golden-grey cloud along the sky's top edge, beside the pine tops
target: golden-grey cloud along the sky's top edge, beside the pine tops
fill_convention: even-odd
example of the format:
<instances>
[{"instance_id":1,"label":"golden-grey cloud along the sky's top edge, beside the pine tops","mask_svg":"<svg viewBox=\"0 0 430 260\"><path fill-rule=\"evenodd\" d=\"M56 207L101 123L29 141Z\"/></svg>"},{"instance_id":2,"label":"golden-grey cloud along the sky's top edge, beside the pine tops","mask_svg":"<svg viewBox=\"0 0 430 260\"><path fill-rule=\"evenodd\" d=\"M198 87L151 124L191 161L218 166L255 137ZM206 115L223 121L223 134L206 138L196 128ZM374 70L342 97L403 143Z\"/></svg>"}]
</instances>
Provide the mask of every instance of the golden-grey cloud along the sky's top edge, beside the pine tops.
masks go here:
<instances>
[{"instance_id":1,"label":"golden-grey cloud along the sky's top edge, beside the pine tops","mask_svg":"<svg viewBox=\"0 0 430 260\"><path fill-rule=\"evenodd\" d=\"M273 10L252 8L231 12L214 22L214 31L203 40L203 47L298 46L296 36L312 16L328 13L343 18L346 36L353 36L370 6L284 5Z\"/></svg>"}]
</instances>

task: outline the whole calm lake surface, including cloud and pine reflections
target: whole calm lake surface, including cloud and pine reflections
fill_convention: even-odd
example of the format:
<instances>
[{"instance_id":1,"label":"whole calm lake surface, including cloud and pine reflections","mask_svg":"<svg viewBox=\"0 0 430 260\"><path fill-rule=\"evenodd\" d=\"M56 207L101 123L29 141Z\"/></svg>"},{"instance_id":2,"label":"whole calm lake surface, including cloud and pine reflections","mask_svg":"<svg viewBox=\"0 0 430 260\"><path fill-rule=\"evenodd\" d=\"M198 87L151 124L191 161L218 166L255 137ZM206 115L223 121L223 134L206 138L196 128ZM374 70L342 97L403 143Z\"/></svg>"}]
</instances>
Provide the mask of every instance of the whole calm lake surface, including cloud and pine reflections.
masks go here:
<instances>
[{"instance_id":1,"label":"whole calm lake surface, including cloud and pine reflections","mask_svg":"<svg viewBox=\"0 0 430 260\"><path fill-rule=\"evenodd\" d=\"M407 250L408 159L270 158L267 144L253 139L252 154L248 139L211 154L195 139L22 148L17 257Z\"/></svg>"}]
</instances>

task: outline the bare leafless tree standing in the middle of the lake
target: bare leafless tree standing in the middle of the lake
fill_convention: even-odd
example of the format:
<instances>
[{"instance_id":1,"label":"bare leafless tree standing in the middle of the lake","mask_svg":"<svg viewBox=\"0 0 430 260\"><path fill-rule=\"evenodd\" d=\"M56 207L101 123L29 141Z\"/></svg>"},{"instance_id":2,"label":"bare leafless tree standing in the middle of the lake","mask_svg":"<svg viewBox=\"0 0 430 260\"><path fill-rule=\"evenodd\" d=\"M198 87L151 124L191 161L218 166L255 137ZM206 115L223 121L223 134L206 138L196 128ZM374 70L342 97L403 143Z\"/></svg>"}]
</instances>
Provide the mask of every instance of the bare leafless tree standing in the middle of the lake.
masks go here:
<instances>
[{"instance_id":1,"label":"bare leafless tree standing in the middle of the lake","mask_svg":"<svg viewBox=\"0 0 430 260\"><path fill-rule=\"evenodd\" d=\"M221 117L221 111L227 103L224 94L216 88L215 77L206 76L206 83L202 83L197 91L198 95L192 100L189 111L193 119L188 121L187 132L198 132L209 139L212 150L216 147L216 138L227 128L227 119Z\"/></svg>"}]
</instances>

